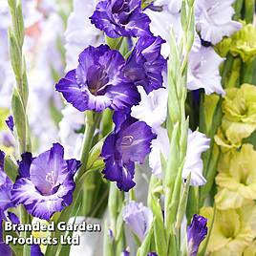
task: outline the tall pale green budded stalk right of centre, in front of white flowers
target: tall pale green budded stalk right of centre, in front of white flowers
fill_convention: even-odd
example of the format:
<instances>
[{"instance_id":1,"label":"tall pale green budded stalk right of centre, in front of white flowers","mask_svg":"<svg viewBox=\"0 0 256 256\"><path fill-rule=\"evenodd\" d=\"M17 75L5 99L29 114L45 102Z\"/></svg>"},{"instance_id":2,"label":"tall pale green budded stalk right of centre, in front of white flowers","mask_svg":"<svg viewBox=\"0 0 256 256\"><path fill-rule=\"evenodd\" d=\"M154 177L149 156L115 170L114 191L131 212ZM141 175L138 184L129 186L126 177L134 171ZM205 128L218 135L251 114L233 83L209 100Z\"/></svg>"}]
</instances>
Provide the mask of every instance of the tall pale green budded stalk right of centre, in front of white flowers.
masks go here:
<instances>
[{"instance_id":1,"label":"tall pale green budded stalk right of centre, in front of white flowers","mask_svg":"<svg viewBox=\"0 0 256 256\"><path fill-rule=\"evenodd\" d=\"M165 229L168 254L171 255L179 255L180 253L180 230L176 229L176 227L180 225L182 219L181 216L177 219L177 214L181 203L181 174L187 147L188 120L185 117L186 72L188 54L194 38L193 9L193 1L182 2L181 25L183 36L181 47L176 43L174 32L171 32L171 53L168 63L167 130L171 146L163 183L165 195L164 213L166 216Z\"/></svg>"}]
</instances>

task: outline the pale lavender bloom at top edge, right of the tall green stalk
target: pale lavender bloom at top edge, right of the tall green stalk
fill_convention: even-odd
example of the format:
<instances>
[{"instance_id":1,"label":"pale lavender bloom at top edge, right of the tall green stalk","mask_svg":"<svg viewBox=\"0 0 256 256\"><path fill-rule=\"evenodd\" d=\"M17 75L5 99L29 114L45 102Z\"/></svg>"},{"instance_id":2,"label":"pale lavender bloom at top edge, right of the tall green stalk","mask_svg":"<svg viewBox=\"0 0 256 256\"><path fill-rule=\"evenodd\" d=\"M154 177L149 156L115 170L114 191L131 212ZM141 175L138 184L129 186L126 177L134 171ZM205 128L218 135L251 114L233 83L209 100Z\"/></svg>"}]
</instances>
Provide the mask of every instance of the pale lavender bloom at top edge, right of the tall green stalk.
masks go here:
<instances>
[{"instance_id":1,"label":"pale lavender bloom at top edge, right of the tall green stalk","mask_svg":"<svg viewBox=\"0 0 256 256\"><path fill-rule=\"evenodd\" d=\"M204 41L217 44L224 36L239 31L242 24L232 21L235 13L232 4L235 0L197 0L196 27Z\"/></svg>"}]
</instances>

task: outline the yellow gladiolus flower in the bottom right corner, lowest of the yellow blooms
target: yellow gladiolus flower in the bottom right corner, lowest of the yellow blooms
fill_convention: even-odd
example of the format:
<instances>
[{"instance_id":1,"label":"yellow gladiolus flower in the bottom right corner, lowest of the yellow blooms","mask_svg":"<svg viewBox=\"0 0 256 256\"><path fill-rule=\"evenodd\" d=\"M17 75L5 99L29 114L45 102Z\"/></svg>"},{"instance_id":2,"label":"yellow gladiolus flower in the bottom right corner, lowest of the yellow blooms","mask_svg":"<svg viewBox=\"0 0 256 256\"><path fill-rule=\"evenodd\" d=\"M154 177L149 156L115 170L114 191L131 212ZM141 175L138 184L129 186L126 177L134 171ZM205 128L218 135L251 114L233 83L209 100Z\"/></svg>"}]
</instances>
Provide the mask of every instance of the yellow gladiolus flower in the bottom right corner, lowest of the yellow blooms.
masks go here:
<instances>
[{"instance_id":1,"label":"yellow gladiolus flower in the bottom right corner, lowest of the yellow blooms","mask_svg":"<svg viewBox=\"0 0 256 256\"><path fill-rule=\"evenodd\" d=\"M214 209L203 207L200 214L212 223ZM240 209L215 211L206 253L211 256L242 256L256 233L256 205L249 203Z\"/></svg>"}]
</instances>

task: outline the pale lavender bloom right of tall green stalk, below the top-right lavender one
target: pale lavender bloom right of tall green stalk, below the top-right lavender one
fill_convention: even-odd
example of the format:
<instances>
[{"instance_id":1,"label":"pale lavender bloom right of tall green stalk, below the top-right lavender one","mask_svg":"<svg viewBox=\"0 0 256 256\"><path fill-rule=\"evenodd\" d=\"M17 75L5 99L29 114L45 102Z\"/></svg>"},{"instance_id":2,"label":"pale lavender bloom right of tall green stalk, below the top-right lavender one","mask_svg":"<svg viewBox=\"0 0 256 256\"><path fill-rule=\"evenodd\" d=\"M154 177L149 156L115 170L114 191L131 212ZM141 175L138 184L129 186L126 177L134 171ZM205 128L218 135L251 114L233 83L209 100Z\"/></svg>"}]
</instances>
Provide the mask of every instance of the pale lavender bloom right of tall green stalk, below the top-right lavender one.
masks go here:
<instances>
[{"instance_id":1,"label":"pale lavender bloom right of tall green stalk, below the top-right lavender one","mask_svg":"<svg viewBox=\"0 0 256 256\"><path fill-rule=\"evenodd\" d=\"M201 47L198 52L191 52L188 60L187 88L203 88L206 95L217 93L224 95L219 67L224 61L211 47Z\"/></svg>"}]
</instances>

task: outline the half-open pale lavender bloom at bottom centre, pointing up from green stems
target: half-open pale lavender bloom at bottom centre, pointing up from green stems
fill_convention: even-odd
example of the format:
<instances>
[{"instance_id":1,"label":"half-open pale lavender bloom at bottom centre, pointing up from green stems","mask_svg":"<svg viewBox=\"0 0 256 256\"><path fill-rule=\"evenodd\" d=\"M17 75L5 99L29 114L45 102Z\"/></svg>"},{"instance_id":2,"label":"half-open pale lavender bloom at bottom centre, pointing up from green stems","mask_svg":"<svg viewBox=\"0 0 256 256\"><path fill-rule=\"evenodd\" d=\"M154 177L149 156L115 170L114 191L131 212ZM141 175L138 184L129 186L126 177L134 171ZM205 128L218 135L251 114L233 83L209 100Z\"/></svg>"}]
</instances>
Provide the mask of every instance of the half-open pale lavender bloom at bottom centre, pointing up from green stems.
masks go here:
<instances>
[{"instance_id":1,"label":"half-open pale lavender bloom at bottom centre, pointing up from green stems","mask_svg":"<svg viewBox=\"0 0 256 256\"><path fill-rule=\"evenodd\" d=\"M123 220L142 242L152 224L153 213L142 203L131 201L123 209Z\"/></svg>"}]
</instances>

